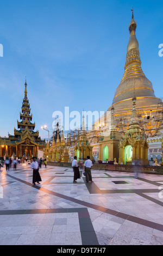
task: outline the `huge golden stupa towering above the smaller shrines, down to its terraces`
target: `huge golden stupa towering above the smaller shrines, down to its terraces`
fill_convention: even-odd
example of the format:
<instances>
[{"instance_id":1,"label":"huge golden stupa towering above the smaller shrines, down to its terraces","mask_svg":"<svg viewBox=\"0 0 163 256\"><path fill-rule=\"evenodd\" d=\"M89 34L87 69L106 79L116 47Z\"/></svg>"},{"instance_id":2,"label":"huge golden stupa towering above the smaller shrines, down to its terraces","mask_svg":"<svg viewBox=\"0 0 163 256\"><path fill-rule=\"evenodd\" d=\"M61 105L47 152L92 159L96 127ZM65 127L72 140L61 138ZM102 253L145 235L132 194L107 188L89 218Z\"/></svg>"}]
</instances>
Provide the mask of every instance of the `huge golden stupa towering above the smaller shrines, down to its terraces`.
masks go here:
<instances>
[{"instance_id":1,"label":"huge golden stupa towering above the smaller shrines, down to its terraces","mask_svg":"<svg viewBox=\"0 0 163 256\"><path fill-rule=\"evenodd\" d=\"M124 75L120 85L117 87L113 106L115 117L126 118L129 123L132 113L132 98L135 92L136 108L139 113L146 116L153 115L161 100L155 96L151 81L145 76L141 68L139 43L136 39L136 21L134 15L129 25L130 39L127 46L126 64ZM111 111L112 105L108 108Z\"/></svg>"}]
</instances>

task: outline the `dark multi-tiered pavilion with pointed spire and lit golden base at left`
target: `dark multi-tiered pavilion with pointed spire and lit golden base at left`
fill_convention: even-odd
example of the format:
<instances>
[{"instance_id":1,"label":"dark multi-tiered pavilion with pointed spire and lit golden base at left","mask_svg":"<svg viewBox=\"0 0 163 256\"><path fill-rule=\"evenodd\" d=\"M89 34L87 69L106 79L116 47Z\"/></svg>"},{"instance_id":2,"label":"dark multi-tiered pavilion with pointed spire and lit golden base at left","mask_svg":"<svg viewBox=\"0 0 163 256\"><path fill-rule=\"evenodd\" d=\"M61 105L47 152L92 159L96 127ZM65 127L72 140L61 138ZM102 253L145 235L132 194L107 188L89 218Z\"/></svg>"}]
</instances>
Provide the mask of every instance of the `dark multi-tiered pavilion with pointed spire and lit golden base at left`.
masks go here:
<instances>
[{"instance_id":1,"label":"dark multi-tiered pavilion with pointed spire and lit golden base at left","mask_svg":"<svg viewBox=\"0 0 163 256\"><path fill-rule=\"evenodd\" d=\"M41 141L39 131L34 131L35 123L32 123L30 104L27 97L27 82L25 82L24 99L20 112L21 121L17 120L17 130L14 128L14 136L0 137L0 157L37 157L37 150L46 147L45 140Z\"/></svg>"}]
</instances>

